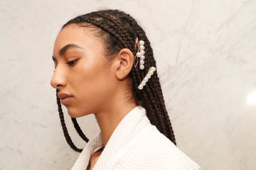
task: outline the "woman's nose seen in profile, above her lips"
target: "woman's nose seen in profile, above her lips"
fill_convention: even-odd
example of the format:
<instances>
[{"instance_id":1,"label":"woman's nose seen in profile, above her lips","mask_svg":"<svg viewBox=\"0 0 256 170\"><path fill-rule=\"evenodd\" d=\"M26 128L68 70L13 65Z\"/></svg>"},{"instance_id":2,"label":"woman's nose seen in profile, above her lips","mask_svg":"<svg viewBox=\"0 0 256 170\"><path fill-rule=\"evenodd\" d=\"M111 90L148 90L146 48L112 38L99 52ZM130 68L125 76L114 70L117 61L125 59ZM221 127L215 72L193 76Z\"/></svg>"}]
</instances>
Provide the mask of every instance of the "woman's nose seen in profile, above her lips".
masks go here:
<instances>
[{"instance_id":1,"label":"woman's nose seen in profile, above her lips","mask_svg":"<svg viewBox=\"0 0 256 170\"><path fill-rule=\"evenodd\" d=\"M66 85L66 79L64 72L61 72L60 69L55 69L52 79L50 80L50 85L55 89L60 89L60 87Z\"/></svg>"}]
</instances>

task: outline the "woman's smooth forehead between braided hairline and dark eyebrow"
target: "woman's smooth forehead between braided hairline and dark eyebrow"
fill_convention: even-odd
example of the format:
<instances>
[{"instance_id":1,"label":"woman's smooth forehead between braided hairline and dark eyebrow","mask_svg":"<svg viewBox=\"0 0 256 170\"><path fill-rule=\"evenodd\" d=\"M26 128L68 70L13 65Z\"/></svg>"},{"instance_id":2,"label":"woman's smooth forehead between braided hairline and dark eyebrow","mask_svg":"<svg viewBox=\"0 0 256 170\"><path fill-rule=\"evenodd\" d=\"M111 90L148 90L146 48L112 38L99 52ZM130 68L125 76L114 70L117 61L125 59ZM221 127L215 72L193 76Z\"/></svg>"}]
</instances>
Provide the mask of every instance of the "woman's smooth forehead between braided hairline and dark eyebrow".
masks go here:
<instances>
[{"instance_id":1,"label":"woman's smooth forehead between braided hairline and dark eyebrow","mask_svg":"<svg viewBox=\"0 0 256 170\"><path fill-rule=\"evenodd\" d=\"M79 45L85 49L93 49L95 47L97 47L97 50L103 49L102 41L91 33L90 28L75 24L70 24L60 31L55 40L53 55L58 55L59 50L68 44Z\"/></svg>"}]
</instances>

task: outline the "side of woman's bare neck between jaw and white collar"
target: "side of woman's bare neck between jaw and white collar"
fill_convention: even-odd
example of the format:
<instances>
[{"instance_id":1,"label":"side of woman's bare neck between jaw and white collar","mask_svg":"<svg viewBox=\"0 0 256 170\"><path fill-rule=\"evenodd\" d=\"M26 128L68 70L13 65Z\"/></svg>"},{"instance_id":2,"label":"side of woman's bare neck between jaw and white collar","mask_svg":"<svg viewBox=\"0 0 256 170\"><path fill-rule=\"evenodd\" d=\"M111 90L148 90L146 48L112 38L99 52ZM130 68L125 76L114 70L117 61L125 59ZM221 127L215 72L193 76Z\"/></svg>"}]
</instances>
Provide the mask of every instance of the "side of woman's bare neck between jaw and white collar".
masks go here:
<instances>
[{"instance_id":1,"label":"side of woman's bare neck between jaw and white collar","mask_svg":"<svg viewBox=\"0 0 256 170\"><path fill-rule=\"evenodd\" d=\"M132 111L132 109L136 107L136 104L135 102L127 103L125 100L119 100L114 105L109 103L108 106L109 107L103 109L104 111L95 113L95 117L102 133L104 146L107 145L107 142L110 140L110 137L115 128L117 128L117 125L121 122L124 116L129 113L129 111Z\"/></svg>"}]
</instances>

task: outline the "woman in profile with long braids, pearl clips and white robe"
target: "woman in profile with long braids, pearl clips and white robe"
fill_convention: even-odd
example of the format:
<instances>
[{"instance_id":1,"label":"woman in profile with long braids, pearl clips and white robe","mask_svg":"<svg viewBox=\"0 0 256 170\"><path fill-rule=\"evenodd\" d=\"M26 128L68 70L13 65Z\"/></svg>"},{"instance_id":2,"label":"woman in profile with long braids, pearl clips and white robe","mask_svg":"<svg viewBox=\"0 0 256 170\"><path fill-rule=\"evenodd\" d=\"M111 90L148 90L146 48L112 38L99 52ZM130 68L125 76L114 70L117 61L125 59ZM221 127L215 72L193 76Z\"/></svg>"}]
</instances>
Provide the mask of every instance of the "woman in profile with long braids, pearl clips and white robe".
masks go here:
<instances>
[{"instance_id":1,"label":"woman in profile with long braids, pearl clips and white robe","mask_svg":"<svg viewBox=\"0 0 256 170\"><path fill-rule=\"evenodd\" d=\"M55 40L58 111L70 147L81 152L75 169L199 169L175 145L156 62L144 30L127 13L104 10L66 23ZM85 149L73 144L62 103L75 118L95 114L100 135Z\"/></svg>"}]
</instances>

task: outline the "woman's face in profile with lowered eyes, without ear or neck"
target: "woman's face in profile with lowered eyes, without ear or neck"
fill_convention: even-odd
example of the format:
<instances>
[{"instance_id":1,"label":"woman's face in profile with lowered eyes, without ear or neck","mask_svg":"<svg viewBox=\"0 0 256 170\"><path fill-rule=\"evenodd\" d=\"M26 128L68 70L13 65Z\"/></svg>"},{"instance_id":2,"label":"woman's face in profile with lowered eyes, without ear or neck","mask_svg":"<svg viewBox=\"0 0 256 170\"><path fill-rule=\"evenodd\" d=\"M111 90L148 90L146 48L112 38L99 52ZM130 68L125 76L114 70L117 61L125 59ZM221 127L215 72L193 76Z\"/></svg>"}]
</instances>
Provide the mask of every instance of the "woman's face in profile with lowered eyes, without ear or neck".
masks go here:
<instances>
[{"instance_id":1,"label":"woman's face in profile with lowered eyes, without ear or neck","mask_svg":"<svg viewBox=\"0 0 256 170\"><path fill-rule=\"evenodd\" d=\"M103 109L115 88L102 41L90 31L70 24L58 34L53 49L50 84L74 118Z\"/></svg>"}]
</instances>

